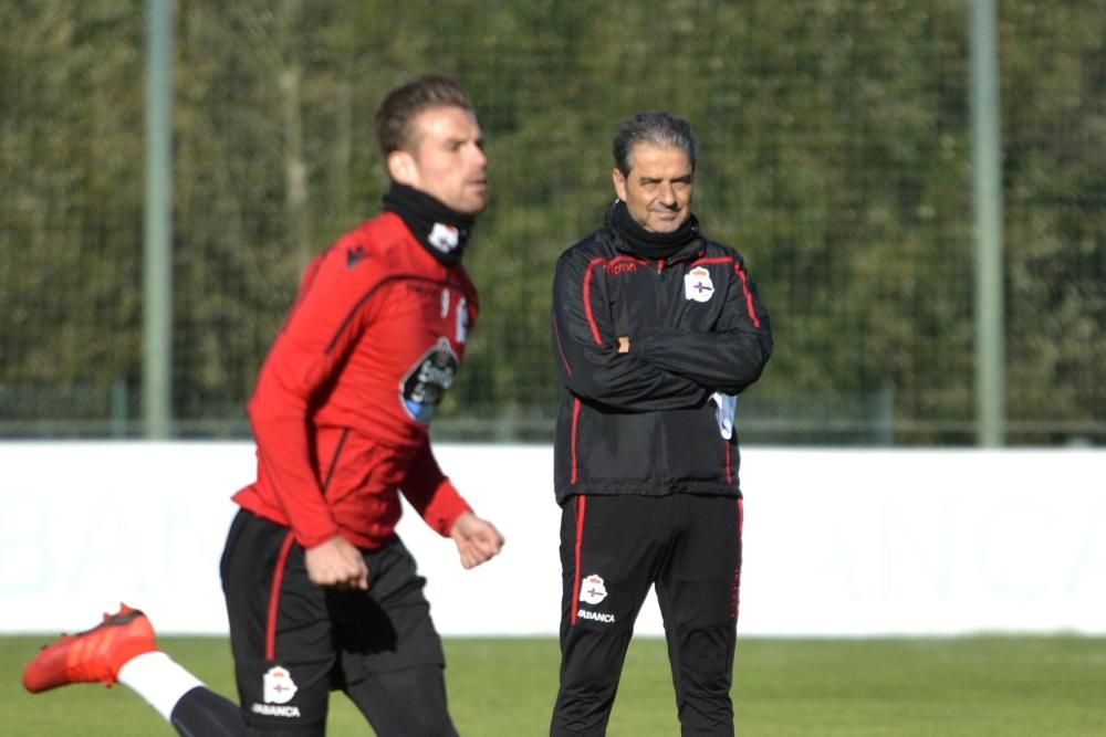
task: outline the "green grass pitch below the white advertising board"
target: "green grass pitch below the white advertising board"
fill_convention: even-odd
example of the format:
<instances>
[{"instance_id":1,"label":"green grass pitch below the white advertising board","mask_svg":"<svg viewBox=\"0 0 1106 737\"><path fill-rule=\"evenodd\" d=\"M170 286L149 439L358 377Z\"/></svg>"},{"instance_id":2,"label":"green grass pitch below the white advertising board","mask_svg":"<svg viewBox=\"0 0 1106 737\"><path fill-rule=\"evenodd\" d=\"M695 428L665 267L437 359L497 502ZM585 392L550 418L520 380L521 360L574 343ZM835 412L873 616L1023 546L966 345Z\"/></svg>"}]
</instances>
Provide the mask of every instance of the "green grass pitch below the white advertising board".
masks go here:
<instances>
[{"instance_id":1,"label":"green grass pitch below the white advertising board","mask_svg":"<svg viewBox=\"0 0 1106 737\"><path fill-rule=\"evenodd\" d=\"M0 733L62 737L175 734L128 689L80 685L31 696L23 663L42 638L0 638ZM233 697L227 642L163 638L164 650ZM450 707L466 736L547 734L553 640L446 641ZM979 636L738 642L738 734L1106 735L1106 639ZM330 735L372 735L341 694ZM657 639L630 646L608 731L678 735L668 659Z\"/></svg>"}]
</instances>

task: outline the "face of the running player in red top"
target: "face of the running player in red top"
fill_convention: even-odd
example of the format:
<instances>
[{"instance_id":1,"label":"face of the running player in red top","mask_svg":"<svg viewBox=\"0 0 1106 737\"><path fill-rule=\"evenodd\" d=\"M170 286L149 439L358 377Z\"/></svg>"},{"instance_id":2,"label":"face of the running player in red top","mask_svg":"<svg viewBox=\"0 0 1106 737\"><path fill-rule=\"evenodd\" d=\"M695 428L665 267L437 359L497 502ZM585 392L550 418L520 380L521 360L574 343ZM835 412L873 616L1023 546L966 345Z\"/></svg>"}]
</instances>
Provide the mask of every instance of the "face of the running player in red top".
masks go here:
<instances>
[{"instance_id":1,"label":"face of the running player in red top","mask_svg":"<svg viewBox=\"0 0 1106 737\"><path fill-rule=\"evenodd\" d=\"M474 215L488 207L483 146L483 134L469 110L431 107L411 120L408 146L388 155L388 172L451 210Z\"/></svg>"}]
</instances>

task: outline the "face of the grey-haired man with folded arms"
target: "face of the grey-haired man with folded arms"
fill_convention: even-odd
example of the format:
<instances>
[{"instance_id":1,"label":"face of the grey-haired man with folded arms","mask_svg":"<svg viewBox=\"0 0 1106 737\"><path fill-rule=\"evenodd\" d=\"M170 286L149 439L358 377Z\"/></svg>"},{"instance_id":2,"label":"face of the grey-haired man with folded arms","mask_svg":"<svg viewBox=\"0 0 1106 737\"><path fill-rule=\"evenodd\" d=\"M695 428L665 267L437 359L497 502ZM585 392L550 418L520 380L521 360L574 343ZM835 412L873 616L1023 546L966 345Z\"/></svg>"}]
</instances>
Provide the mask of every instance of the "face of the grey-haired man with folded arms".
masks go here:
<instances>
[{"instance_id":1,"label":"face of the grey-haired man with folded arms","mask_svg":"<svg viewBox=\"0 0 1106 737\"><path fill-rule=\"evenodd\" d=\"M671 233L691 214L691 161L678 146L637 144L629 173L614 170L615 192L641 228Z\"/></svg>"}]
</instances>

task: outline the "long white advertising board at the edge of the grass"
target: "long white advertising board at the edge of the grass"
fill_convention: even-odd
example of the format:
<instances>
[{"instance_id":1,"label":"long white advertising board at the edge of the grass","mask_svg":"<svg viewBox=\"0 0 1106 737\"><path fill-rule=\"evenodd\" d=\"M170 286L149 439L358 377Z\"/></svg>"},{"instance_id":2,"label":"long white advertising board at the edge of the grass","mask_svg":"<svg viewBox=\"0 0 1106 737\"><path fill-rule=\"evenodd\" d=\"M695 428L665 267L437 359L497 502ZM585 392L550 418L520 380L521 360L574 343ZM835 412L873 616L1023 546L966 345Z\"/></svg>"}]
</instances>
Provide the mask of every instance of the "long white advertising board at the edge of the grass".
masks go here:
<instances>
[{"instance_id":1,"label":"long white advertising board at the edge of the grass","mask_svg":"<svg viewBox=\"0 0 1106 737\"><path fill-rule=\"evenodd\" d=\"M400 535L445 635L554 635L552 449L436 454L503 554L461 569ZM226 632L218 564L250 443L0 443L0 632L83 629L119 601L161 633ZM742 451L739 630L754 636L1106 634L1106 452ZM655 600L640 634L660 634Z\"/></svg>"}]
</instances>

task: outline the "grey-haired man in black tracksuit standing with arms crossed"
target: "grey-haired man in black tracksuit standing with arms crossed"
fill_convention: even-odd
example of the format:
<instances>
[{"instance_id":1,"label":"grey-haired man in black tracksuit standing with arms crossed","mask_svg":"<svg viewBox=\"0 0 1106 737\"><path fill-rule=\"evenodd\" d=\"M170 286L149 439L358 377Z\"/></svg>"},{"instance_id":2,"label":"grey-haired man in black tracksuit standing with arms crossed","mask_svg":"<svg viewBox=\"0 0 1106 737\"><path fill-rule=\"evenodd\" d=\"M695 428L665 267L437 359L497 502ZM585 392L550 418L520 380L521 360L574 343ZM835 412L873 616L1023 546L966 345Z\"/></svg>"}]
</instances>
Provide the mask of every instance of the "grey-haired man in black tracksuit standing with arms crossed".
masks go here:
<instances>
[{"instance_id":1,"label":"grey-haired man in black tracksuit standing with arms crossed","mask_svg":"<svg viewBox=\"0 0 1106 737\"><path fill-rule=\"evenodd\" d=\"M732 735L741 580L737 394L772 352L741 256L691 214L696 143L646 113L614 141L603 228L562 254L561 687L551 734L603 735L656 585L685 735Z\"/></svg>"}]
</instances>

